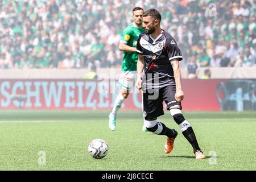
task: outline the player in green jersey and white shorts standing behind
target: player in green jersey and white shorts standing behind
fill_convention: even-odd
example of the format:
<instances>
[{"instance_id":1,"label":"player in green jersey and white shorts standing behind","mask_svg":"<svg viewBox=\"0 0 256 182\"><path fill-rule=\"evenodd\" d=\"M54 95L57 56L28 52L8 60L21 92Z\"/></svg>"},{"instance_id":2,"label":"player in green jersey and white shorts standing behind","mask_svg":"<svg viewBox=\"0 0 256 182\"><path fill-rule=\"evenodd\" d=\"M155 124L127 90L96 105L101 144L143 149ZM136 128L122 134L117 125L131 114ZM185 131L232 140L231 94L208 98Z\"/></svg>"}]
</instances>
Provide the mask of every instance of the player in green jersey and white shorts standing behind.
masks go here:
<instances>
[{"instance_id":1,"label":"player in green jersey and white shorts standing behind","mask_svg":"<svg viewBox=\"0 0 256 182\"><path fill-rule=\"evenodd\" d=\"M141 7L134 7L133 20L128 27L123 30L122 38L119 43L119 50L123 51L122 75L119 78L119 83L122 85L121 93L115 98L114 107L109 114L109 128L115 130L116 115L120 109L123 101L129 96L129 90L133 87L137 80L137 60L136 53L137 40L139 34L144 33L145 29L142 27L143 9ZM143 126L143 131L147 131Z\"/></svg>"}]
</instances>

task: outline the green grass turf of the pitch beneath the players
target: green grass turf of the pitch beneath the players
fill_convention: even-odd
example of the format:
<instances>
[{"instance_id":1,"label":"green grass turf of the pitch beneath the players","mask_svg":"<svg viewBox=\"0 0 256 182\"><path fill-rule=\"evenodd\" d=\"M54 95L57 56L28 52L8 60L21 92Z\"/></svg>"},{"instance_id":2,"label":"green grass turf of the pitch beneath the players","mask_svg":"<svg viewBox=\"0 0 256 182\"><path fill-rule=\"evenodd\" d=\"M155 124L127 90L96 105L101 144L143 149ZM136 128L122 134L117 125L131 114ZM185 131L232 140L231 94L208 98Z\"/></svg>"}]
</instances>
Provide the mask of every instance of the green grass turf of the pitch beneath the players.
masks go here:
<instances>
[{"instance_id":1,"label":"green grass turf of the pitch beneath the players","mask_svg":"<svg viewBox=\"0 0 256 182\"><path fill-rule=\"evenodd\" d=\"M117 130L108 111L0 110L0 170L256 170L256 113L185 112L201 149L196 160L179 126L166 113L159 121L179 132L170 154L166 137L142 132L142 112L120 110ZM104 159L88 153L91 140L109 144ZM39 165L39 151L46 165ZM217 156L214 156L214 155Z\"/></svg>"}]
</instances>

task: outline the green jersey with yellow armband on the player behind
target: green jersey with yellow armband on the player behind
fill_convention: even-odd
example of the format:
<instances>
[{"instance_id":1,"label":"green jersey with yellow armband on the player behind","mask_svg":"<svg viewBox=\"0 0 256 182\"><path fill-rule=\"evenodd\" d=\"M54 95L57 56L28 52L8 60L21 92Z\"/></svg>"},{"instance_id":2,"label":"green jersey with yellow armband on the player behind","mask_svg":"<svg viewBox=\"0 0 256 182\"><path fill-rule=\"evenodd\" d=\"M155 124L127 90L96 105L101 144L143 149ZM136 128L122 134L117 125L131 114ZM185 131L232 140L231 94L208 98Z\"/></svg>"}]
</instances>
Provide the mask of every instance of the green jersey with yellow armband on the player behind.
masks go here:
<instances>
[{"instance_id":1,"label":"green jersey with yellow armband on the player behind","mask_svg":"<svg viewBox=\"0 0 256 182\"><path fill-rule=\"evenodd\" d=\"M122 38L120 42L127 44L130 47L137 46L137 40L139 38L139 34L144 33L145 29L135 27L133 23L131 23L128 27L123 30ZM138 53L136 52L123 52L123 65L122 71L136 71L137 70L137 60Z\"/></svg>"}]
</instances>

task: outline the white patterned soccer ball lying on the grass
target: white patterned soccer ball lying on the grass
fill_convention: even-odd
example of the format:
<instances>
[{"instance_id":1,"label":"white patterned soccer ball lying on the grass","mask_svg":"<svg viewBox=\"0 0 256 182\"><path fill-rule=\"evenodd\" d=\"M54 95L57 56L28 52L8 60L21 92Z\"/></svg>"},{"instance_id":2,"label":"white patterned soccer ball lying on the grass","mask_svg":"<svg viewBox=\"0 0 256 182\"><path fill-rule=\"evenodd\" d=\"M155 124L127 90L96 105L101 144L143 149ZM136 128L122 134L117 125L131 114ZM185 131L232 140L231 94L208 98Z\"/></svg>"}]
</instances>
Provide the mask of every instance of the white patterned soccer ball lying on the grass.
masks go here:
<instances>
[{"instance_id":1,"label":"white patterned soccer ball lying on the grass","mask_svg":"<svg viewBox=\"0 0 256 182\"><path fill-rule=\"evenodd\" d=\"M90 142L88 151L94 159L102 159L108 154L109 146L104 140L95 139Z\"/></svg>"}]
</instances>

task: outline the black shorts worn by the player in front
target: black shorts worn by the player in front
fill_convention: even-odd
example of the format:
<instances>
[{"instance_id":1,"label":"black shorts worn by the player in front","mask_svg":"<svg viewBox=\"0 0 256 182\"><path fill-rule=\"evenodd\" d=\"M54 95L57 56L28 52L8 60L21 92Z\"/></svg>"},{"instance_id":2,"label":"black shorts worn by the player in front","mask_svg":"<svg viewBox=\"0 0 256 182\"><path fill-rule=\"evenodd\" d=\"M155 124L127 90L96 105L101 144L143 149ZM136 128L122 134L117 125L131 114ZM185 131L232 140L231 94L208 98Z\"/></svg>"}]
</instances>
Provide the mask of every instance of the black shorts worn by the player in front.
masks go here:
<instances>
[{"instance_id":1,"label":"black shorts worn by the player in front","mask_svg":"<svg viewBox=\"0 0 256 182\"><path fill-rule=\"evenodd\" d=\"M160 89L148 89L143 93L143 114L144 118L148 121L154 120L160 115L164 115L163 101L166 102L166 109L170 110L170 107L180 105L181 102L175 100L175 85L164 86Z\"/></svg>"}]
</instances>

